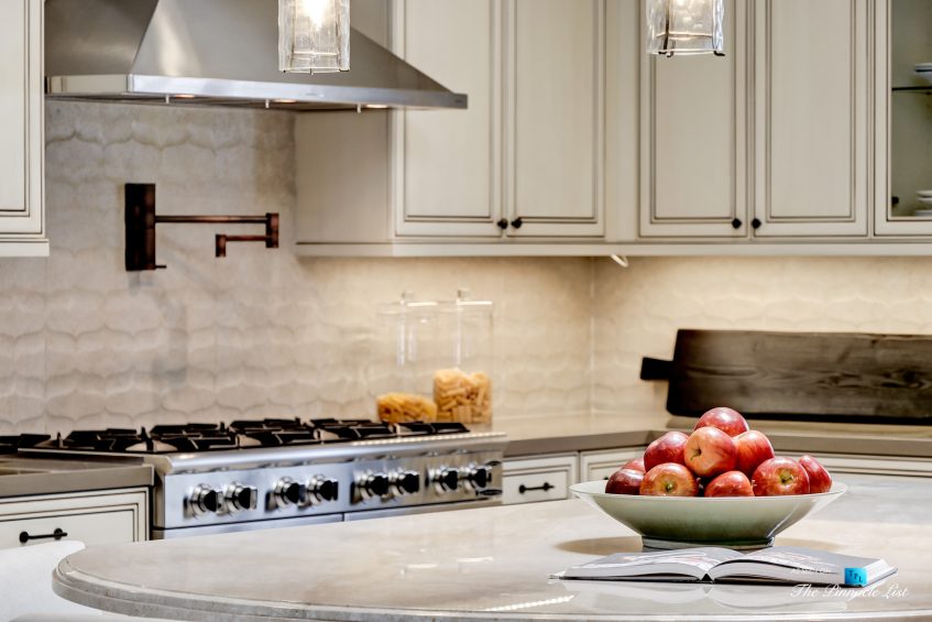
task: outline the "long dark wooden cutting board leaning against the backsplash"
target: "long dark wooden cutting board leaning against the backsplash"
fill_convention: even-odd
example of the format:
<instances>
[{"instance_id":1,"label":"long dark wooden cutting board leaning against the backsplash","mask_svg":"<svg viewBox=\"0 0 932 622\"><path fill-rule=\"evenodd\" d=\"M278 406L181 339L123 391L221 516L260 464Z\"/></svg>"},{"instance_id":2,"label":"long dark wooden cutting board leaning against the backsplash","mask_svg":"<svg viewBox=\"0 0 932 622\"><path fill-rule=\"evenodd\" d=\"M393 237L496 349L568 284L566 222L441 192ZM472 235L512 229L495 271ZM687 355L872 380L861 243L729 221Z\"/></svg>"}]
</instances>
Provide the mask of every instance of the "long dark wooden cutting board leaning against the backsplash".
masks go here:
<instances>
[{"instance_id":1,"label":"long dark wooden cutting board leaning against the backsplash","mask_svg":"<svg viewBox=\"0 0 932 622\"><path fill-rule=\"evenodd\" d=\"M932 424L932 336L683 329L642 379L669 380L675 415Z\"/></svg>"}]
</instances>

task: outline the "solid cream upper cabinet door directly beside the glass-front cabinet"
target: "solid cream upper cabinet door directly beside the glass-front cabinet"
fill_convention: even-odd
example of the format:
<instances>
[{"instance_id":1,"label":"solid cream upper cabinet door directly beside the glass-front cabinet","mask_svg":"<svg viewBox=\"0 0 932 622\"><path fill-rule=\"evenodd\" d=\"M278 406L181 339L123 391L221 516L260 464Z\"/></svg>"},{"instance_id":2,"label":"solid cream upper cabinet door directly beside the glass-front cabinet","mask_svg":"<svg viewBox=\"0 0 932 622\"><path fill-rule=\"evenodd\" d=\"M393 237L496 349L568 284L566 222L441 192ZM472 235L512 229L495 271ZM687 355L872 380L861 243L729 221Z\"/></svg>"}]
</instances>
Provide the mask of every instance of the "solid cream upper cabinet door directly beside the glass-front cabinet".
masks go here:
<instances>
[{"instance_id":1,"label":"solid cream upper cabinet door directly beside the glass-front cabinet","mask_svg":"<svg viewBox=\"0 0 932 622\"><path fill-rule=\"evenodd\" d=\"M867 234L868 4L755 3L755 237Z\"/></svg>"}]
</instances>

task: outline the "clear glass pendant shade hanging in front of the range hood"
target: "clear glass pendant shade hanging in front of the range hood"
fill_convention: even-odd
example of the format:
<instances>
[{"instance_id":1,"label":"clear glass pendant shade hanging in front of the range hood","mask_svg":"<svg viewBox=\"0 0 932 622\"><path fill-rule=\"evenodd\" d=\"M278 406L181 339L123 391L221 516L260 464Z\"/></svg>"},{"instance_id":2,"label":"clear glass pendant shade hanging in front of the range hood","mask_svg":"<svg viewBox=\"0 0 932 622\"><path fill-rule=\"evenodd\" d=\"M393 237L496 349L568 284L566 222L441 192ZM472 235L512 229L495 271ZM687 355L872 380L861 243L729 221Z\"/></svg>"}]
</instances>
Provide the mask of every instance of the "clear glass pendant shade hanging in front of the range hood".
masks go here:
<instances>
[{"instance_id":1,"label":"clear glass pendant shade hanging in front of the range hood","mask_svg":"<svg viewBox=\"0 0 932 622\"><path fill-rule=\"evenodd\" d=\"M278 69L350 69L350 0L278 0Z\"/></svg>"}]
</instances>

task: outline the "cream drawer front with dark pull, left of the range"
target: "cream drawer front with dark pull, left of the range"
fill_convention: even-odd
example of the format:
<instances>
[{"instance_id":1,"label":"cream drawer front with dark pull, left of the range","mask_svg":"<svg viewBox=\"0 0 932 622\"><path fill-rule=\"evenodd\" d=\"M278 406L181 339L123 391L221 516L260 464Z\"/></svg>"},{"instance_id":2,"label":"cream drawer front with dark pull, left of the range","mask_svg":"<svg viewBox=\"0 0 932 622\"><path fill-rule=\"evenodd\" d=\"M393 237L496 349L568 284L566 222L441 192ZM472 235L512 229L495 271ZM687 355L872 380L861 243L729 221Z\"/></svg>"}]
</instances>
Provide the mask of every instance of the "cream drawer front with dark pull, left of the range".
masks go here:
<instances>
[{"instance_id":1,"label":"cream drawer front with dark pull, left of the range","mask_svg":"<svg viewBox=\"0 0 932 622\"><path fill-rule=\"evenodd\" d=\"M110 512L85 512L59 516L36 516L0 522L0 548L42 544L55 539L74 539L88 546L133 542L135 516L131 509ZM61 537L35 537L59 534ZM21 534L30 539L22 542Z\"/></svg>"}]
</instances>

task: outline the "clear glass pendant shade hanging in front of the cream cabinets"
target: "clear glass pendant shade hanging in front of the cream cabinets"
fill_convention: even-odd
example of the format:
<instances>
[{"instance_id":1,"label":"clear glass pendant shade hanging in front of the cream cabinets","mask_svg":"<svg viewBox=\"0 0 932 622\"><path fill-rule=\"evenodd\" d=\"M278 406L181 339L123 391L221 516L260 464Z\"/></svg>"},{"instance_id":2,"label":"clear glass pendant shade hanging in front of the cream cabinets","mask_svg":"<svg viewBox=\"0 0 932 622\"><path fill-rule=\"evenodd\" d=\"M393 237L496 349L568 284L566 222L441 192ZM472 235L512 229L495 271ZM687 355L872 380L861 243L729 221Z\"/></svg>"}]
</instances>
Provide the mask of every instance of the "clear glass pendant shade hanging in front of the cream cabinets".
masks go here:
<instances>
[{"instance_id":1,"label":"clear glass pendant shade hanging in front of the cream cabinets","mask_svg":"<svg viewBox=\"0 0 932 622\"><path fill-rule=\"evenodd\" d=\"M725 0L645 0L648 54L725 55Z\"/></svg>"}]
</instances>

